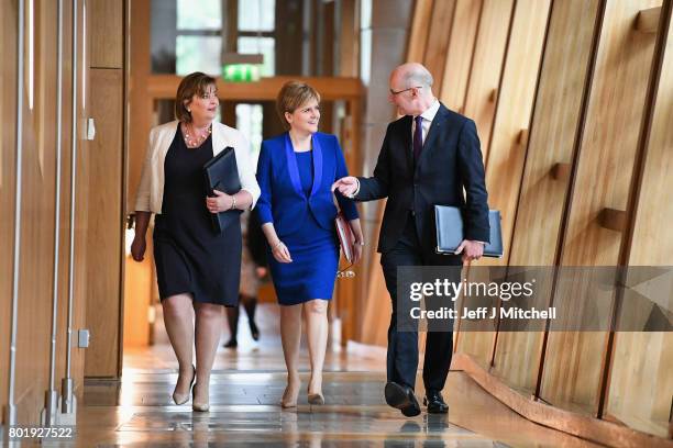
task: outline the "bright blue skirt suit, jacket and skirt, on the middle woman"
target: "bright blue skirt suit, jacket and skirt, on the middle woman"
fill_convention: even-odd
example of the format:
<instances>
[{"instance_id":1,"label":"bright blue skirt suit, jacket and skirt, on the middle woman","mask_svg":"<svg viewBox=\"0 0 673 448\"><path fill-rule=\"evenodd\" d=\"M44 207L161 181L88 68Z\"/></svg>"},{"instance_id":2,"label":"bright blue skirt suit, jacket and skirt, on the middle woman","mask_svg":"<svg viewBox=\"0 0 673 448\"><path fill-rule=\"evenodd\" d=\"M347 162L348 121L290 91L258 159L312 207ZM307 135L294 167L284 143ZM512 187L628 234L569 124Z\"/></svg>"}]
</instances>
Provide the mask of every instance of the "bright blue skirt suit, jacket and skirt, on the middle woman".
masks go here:
<instances>
[{"instance_id":1,"label":"bright blue skirt suit, jacket and skirt, on the middle woman","mask_svg":"<svg viewBox=\"0 0 673 448\"><path fill-rule=\"evenodd\" d=\"M339 267L336 206L330 187L347 169L334 135L316 133L311 150L296 153L288 133L262 142L257 182L262 193L255 210L262 224L273 223L291 262L269 269L280 305L313 299L330 300ZM355 203L336 194L346 220L357 219Z\"/></svg>"}]
</instances>

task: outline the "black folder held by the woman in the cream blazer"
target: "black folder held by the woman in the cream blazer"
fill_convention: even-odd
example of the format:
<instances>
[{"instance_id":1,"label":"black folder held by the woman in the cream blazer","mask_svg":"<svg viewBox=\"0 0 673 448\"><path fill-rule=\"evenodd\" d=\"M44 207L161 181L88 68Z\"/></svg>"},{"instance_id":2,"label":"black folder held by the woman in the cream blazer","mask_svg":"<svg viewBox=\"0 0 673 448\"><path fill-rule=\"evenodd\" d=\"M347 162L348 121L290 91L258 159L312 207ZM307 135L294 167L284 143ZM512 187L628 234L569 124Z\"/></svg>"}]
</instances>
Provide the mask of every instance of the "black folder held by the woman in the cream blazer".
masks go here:
<instances>
[{"instance_id":1,"label":"black folder held by the woman in the cream blazer","mask_svg":"<svg viewBox=\"0 0 673 448\"><path fill-rule=\"evenodd\" d=\"M214 197L212 190L227 194L235 194L241 191L241 179L239 179L239 167L234 149L228 146L220 154L208 160L203 165L203 176L206 177L206 190L211 198ZM211 213L212 229L218 234L222 233L232 222L240 219L241 213L243 213L242 210Z\"/></svg>"}]
</instances>

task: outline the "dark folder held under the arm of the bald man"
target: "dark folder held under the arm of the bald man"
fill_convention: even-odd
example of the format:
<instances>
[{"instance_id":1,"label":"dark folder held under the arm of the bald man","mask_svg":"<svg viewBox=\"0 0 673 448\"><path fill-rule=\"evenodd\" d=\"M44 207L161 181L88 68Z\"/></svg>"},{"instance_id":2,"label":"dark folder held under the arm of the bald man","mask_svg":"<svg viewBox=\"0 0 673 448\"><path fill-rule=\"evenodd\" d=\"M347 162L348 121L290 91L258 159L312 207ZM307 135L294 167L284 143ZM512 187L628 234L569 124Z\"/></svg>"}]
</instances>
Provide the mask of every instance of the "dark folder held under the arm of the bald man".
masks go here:
<instances>
[{"instance_id":1,"label":"dark folder held under the arm of the bald man","mask_svg":"<svg viewBox=\"0 0 673 448\"><path fill-rule=\"evenodd\" d=\"M449 205L434 205L434 224L437 232L437 253L454 254L463 242L463 215L461 209ZM484 246L484 257L503 257L503 232L500 212L488 211L490 243Z\"/></svg>"}]
</instances>

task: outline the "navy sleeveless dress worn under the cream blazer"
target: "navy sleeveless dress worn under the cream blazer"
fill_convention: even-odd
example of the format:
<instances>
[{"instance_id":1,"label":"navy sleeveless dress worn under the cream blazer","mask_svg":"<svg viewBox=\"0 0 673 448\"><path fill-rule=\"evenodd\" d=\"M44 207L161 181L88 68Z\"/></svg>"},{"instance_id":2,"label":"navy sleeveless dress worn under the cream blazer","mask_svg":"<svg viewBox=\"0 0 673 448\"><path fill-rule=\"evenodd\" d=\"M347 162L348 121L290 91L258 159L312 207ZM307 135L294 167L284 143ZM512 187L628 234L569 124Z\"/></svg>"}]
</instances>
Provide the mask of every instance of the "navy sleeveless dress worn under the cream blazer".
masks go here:
<instances>
[{"instance_id":1,"label":"navy sleeveless dress worn under the cream blazer","mask_svg":"<svg viewBox=\"0 0 673 448\"><path fill-rule=\"evenodd\" d=\"M188 148L178 126L164 161L162 213L154 219L159 296L190 293L195 302L236 306L241 223L234 221L222 234L212 229L203 181L203 165L211 158L211 137Z\"/></svg>"}]
</instances>

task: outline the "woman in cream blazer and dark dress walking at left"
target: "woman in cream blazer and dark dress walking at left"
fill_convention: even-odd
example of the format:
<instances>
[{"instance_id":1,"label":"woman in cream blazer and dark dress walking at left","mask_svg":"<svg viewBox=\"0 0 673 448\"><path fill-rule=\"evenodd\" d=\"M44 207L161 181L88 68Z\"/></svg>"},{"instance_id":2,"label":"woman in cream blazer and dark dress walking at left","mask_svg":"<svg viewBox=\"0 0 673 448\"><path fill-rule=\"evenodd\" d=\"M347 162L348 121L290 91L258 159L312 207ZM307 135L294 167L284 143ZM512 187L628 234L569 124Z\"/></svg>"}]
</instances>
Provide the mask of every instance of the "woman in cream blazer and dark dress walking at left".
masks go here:
<instances>
[{"instance_id":1,"label":"woman in cream blazer and dark dress walking at left","mask_svg":"<svg viewBox=\"0 0 673 448\"><path fill-rule=\"evenodd\" d=\"M154 213L154 260L166 332L179 376L176 404L209 410L209 381L223 306L238 306L241 273L241 223L212 229L211 213L252 209L260 197L250 145L239 131L214 122L216 80L201 72L183 79L176 94L177 121L154 127L135 201L133 259L145 253L145 234ZM207 197L203 165L227 146L234 148L241 190ZM196 314L196 325L192 318ZM196 367L192 366L196 346Z\"/></svg>"}]
</instances>

